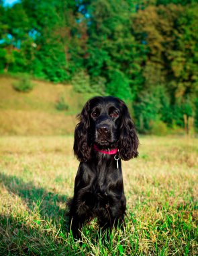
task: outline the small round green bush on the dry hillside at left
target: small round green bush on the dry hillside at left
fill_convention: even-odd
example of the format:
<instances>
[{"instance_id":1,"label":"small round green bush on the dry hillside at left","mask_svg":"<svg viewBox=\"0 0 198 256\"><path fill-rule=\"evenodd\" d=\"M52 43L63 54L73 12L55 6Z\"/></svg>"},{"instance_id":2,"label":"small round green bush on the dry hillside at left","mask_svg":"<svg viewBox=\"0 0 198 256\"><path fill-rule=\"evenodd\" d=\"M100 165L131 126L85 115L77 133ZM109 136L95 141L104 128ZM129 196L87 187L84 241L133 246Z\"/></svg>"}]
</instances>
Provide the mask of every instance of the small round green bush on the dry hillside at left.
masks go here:
<instances>
[{"instance_id":1,"label":"small round green bush on the dry hillside at left","mask_svg":"<svg viewBox=\"0 0 198 256\"><path fill-rule=\"evenodd\" d=\"M28 74L21 74L18 81L13 83L13 88L18 92L30 92L34 88L34 84Z\"/></svg>"}]
</instances>

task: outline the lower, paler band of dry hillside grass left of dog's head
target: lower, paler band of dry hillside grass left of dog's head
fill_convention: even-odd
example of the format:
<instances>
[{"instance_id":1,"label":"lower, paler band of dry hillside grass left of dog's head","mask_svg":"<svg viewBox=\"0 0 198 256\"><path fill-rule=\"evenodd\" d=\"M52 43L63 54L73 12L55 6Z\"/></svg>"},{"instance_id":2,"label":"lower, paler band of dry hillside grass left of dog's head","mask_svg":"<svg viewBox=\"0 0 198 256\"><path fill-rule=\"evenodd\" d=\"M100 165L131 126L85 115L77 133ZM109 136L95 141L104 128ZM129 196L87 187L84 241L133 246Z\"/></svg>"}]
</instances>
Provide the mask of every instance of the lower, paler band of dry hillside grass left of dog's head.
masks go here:
<instances>
[{"instance_id":1,"label":"lower, paler band of dry hillside grass left of dog's head","mask_svg":"<svg viewBox=\"0 0 198 256\"><path fill-rule=\"evenodd\" d=\"M75 115L40 110L0 110L0 135L65 135L77 125Z\"/></svg>"}]
</instances>

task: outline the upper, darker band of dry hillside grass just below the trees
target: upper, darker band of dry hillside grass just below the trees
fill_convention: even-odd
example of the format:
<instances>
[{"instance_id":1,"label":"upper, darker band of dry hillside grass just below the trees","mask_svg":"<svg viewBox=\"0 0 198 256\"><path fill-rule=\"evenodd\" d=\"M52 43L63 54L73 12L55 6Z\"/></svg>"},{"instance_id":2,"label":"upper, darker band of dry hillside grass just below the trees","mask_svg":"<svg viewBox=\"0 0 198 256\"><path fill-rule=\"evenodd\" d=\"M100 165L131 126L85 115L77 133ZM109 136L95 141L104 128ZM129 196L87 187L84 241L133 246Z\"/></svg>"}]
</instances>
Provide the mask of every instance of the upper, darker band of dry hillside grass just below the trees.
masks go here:
<instances>
[{"instance_id":1,"label":"upper, darker band of dry hillside grass just below the trees","mask_svg":"<svg viewBox=\"0 0 198 256\"><path fill-rule=\"evenodd\" d=\"M54 104L60 96L64 96L66 102L73 109L79 108L79 102L74 100L76 96L72 92L72 86L63 84L52 84L50 82L32 81L34 89L31 92L17 92L13 89L11 77L0 77L0 109L14 110L42 110L54 112ZM79 97L79 100L81 98Z\"/></svg>"}]
</instances>

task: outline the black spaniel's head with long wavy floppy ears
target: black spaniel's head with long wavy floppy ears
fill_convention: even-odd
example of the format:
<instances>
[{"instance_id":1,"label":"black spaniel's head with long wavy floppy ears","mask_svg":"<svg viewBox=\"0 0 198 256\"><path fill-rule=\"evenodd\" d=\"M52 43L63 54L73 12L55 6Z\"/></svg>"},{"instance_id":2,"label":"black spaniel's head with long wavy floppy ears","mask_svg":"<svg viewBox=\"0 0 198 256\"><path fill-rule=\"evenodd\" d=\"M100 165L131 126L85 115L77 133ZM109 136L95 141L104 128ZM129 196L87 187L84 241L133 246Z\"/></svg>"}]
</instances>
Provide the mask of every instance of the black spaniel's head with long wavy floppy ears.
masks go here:
<instances>
[{"instance_id":1,"label":"black spaniel's head with long wavy floppy ears","mask_svg":"<svg viewBox=\"0 0 198 256\"><path fill-rule=\"evenodd\" d=\"M80 161L91 158L93 145L110 150L118 148L119 157L130 160L138 156L138 136L126 104L113 96L87 101L75 129L75 156Z\"/></svg>"}]
</instances>

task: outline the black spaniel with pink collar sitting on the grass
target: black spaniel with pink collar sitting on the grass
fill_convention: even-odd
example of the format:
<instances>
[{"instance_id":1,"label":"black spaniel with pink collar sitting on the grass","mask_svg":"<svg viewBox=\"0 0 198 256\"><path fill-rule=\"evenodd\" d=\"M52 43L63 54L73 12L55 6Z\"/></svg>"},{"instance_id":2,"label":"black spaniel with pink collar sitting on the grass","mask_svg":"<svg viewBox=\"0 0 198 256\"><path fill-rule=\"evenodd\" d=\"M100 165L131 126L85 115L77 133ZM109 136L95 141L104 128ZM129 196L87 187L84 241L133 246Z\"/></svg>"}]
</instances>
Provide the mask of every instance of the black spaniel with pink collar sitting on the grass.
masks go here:
<instances>
[{"instance_id":1,"label":"black spaniel with pink collar sitting on the grass","mask_svg":"<svg viewBox=\"0 0 198 256\"><path fill-rule=\"evenodd\" d=\"M70 205L70 227L81 237L82 224L97 217L99 226L113 228L123 222L126 197L123 193L121 159L138 156L138 137L128 108L118 98L89 100L75 129L75 156L81 162Z\"/></svg>"}]
</instances>

